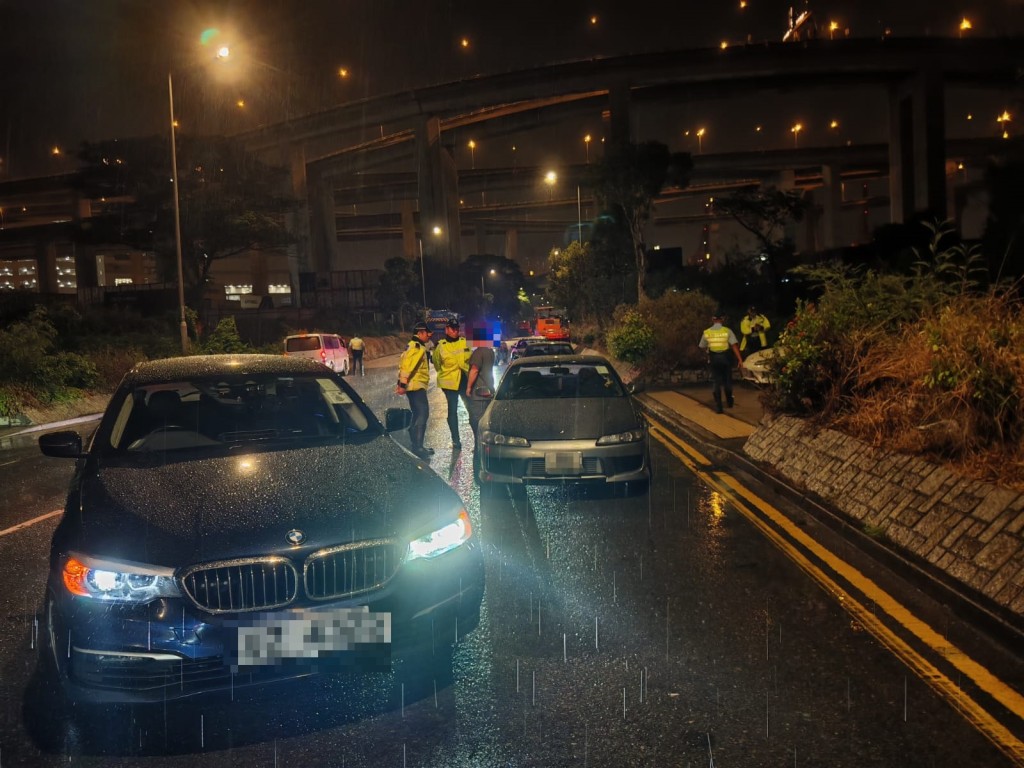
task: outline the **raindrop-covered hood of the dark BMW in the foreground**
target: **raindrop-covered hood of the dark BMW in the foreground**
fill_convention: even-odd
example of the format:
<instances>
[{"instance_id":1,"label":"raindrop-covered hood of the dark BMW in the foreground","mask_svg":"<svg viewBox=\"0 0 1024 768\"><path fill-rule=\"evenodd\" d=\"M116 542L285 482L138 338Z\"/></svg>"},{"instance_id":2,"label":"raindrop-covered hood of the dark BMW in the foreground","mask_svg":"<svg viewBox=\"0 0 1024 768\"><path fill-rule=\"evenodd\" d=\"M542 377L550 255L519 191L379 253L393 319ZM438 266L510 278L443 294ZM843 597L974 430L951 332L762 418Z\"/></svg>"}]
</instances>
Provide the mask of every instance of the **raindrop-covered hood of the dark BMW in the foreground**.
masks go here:
<instances>
[{"instance_id":1,"label":"raindrop-covered hood of the dark BMW in the foreground","mask_svg":"<svg viewBox=\"0 0 1024 768\"><path fill-rule=\"evenodd\" d=\"M461 500L391 438L83 473L68 549L178 567L367 539L420 536Z\"/></svg>"}]
</instances>

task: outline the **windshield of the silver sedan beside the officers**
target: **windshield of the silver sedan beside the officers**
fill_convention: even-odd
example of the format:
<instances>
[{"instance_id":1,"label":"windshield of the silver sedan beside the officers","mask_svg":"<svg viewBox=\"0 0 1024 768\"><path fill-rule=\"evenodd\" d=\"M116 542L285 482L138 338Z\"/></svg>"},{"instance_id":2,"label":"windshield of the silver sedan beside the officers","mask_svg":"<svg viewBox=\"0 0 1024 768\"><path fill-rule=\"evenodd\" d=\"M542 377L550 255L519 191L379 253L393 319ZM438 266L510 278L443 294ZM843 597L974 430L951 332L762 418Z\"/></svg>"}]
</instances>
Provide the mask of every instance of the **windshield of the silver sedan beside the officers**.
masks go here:
<instances>
[{"instance_id":1,"label":"windshield of the silver sedan beside the officers","mask_svg":"<svg viewBox=\"0 0 1024 768\"><path fill-rule=\"evenodd\" d=\"M623 397L618 377L607 365L516 366L502 379L499 400Z\"/></svg>"}]
</instances>

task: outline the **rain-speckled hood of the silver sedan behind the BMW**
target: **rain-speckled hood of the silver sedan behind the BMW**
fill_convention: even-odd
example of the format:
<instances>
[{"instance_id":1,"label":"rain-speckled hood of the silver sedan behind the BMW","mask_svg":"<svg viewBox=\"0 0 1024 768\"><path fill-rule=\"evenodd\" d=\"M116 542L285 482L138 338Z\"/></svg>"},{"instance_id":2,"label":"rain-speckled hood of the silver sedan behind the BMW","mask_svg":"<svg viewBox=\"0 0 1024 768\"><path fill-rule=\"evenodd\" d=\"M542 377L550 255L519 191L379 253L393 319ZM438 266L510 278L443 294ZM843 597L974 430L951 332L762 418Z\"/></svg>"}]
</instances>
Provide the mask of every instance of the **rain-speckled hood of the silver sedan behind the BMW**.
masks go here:
<instances>
[{"instance_id":1,"label":"rain-speckled hood of the silver sedan behind the BMW","mask_svg":"<svg viewBox=\"0 0 1024 768\"><path fill-rule=\"evenodd\" d=\"M530 440L589 439L640 425L628 397L495 400L481 429Z\"/></svg>"}]
</instances>

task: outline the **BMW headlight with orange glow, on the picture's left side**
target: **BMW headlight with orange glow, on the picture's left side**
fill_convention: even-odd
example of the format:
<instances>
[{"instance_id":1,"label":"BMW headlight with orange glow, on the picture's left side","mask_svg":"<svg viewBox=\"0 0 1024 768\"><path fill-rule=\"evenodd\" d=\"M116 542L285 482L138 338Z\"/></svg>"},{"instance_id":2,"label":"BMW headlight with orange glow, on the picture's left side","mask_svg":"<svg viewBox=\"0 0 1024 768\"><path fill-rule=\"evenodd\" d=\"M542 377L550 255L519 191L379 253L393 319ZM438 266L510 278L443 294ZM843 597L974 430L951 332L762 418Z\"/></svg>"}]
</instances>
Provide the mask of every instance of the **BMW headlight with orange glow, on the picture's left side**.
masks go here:
<instances>
[{"instance_id":1,"label":"BMW headlight with orange glow, on the picture's left side","mask_svg":"<svg viewBox=\"0 0 1024 768\"><path fill-rule=\"evenodd\" d=\"M73 595L119 603L147 603L159 597L180 597L174 571L157 565L104 560L71 553L61 569Z\"/></svg>"}]
</instances>

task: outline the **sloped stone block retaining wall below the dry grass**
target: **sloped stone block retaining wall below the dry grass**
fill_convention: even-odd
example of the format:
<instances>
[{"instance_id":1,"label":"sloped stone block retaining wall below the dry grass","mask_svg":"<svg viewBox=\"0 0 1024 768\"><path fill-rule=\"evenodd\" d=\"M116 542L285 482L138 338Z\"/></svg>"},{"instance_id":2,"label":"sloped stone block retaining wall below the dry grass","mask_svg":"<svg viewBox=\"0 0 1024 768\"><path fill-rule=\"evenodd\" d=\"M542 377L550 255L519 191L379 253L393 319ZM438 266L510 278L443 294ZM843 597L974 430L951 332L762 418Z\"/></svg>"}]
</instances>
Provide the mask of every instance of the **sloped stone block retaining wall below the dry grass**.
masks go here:
<instances>
[{"instance_id":1,"label":"sloped stone block retaining wall below the dry grass","mask_svg":"<svg viewBox=\"0 0 1024 768\"><path fill-rule=\"evenodd\" d=\"M743 451L1024 616L1024 495L786 416L766 417Z\"/></svg>"}]
</instances>

